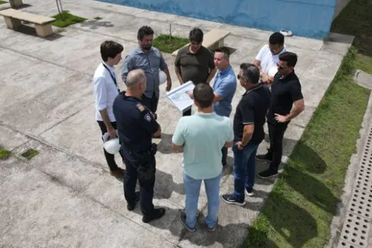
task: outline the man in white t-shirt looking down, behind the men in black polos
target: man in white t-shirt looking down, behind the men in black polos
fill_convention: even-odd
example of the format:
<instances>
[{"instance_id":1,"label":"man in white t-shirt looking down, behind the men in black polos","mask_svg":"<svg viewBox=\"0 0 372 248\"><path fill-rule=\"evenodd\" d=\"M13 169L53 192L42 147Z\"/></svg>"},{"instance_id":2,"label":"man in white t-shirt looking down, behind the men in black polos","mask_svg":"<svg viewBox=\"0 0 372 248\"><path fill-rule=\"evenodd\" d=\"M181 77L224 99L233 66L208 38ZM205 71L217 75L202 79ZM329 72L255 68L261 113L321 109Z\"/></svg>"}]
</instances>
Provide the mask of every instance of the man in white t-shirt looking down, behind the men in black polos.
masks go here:
<instances>
[{"instance_id":1,"label":"man in white t-shirt looking down, behind the men in black polos","mask_svg":"<svg viewBox=\"0 0 372 248\"><path fill-rule=\"evenodd\" d=\"M253 62L261 71L260 76L263 84L271 84L273 82L274 75L278 70L276 63L279 61L279 55L283 52L286 52L284 35L275 32L270 35L269 44L264 45L264 47L259 50Z\"/></svg>"}]
</instances>

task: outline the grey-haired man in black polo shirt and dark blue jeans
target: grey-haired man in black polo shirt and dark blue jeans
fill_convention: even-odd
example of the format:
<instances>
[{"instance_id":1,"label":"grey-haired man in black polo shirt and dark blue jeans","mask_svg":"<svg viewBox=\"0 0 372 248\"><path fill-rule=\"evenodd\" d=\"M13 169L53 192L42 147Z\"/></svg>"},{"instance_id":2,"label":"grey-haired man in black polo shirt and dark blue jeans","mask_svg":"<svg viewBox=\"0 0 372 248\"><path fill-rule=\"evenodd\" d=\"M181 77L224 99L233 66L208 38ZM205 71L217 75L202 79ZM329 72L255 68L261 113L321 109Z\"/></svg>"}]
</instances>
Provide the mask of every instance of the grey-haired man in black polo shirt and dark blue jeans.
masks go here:
<instances>
[{"instance_id":1,"label":"grey-haired man in black polo shirt and dark blue jeans","mask_svg":"<svg viewBox=\"0 0 372 248\"><path fill-rule=\"evenodd\" d=\"M270 92L266 86L259 84L259 68L254 64L241 64L237 78L246 92L234 115L234 193L223 195L222 199L226 203L244 205L244 188L248 196L253 196L255 157L257 147L265 136Z\"/></svg>"}]
</instances>

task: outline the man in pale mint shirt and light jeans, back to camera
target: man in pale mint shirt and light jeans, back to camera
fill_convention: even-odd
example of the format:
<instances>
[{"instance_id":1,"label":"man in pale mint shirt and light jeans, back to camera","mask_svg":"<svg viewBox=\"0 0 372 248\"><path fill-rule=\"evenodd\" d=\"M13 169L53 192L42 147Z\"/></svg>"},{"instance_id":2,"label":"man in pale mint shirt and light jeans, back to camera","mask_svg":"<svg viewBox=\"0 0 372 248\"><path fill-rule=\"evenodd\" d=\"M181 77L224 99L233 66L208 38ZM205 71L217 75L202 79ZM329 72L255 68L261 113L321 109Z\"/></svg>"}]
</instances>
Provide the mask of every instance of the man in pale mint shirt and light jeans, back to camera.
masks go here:
<instances>
[{"instance_id":1,"label":"man in pale mint shirt and light jeans, back to camera","mask_svg":"<svg viewBox=\"0 0 372 248\"><path fill-rule=\"evenodd\" d=\"M234 138L230 119L213 111L213 89L209 84L198 84L193 89L198 113L179 120L172 137L175 151L184 151L184 186L186 208L179 219L190 232L196 230L196 214L201 181L208 197L205 224L215 230L220 208L221 147L231 147Z\"/></svg>"}]
</instances>

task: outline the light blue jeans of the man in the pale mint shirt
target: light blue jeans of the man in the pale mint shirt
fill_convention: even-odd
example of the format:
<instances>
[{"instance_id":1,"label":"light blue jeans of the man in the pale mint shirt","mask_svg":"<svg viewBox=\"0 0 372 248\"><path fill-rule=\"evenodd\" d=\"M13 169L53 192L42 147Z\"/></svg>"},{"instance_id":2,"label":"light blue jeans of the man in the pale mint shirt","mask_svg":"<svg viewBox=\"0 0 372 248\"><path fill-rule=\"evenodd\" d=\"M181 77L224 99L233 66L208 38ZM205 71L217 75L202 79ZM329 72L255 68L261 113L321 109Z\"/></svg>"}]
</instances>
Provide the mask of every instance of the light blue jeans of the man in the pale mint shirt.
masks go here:
<instances>
[{"instance_id":1,"label":"light blue jeans of the man in the pale mint shirt","mask_svg":"<svg viewBox=\"0 0 372 248\"><path fill-rule=\"evenodd\" d=\"M184 173L184 186L186 193L186 225L195 227L196 214L198 213L198 200L201 191L201 181L204 181L205 191L208 198L208 215L205 224L208 227L215 227L218 220L218 210L220 209L220 181L221 174L213 179L193 179Z\"/></svg>"}]
</instances>

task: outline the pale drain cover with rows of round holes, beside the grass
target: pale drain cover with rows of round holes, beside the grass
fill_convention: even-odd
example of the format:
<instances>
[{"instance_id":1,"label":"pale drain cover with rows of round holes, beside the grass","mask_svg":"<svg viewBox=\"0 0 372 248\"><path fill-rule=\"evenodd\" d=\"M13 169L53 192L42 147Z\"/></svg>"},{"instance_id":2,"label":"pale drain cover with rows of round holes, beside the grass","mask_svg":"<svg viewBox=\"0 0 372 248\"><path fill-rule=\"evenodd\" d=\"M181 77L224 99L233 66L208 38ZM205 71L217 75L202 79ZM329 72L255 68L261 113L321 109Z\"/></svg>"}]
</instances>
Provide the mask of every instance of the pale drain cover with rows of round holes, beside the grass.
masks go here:
<instances>
[{"instance_id":1,"label":"pale drain cover with rows of round holes, beside the grass","mask_svg":"<svg viewBox=\"0 0 372 248\"><path fill-rule=\"evenodd\" d=\"M363 147L353 193L339 239L340 248L368 247L372 220L372 125Z\"/></svg>"}]
</instances>

